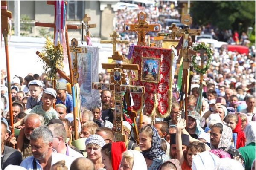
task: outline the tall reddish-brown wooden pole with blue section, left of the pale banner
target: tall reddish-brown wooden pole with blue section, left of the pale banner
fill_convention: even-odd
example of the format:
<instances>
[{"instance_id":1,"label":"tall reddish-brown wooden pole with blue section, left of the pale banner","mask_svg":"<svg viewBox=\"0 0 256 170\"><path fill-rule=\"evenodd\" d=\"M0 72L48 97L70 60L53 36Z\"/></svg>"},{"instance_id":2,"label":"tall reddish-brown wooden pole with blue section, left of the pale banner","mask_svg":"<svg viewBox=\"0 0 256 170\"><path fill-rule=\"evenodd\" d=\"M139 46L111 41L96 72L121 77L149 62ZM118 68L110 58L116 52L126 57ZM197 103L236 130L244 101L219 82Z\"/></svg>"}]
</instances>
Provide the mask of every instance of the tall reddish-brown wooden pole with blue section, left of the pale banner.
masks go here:
<instances>
[{"instance_id":1,"label":"tall reddish-brown wooden pole with blue section, left of the pale banner","mask_svg":"<svg viewBox=\"0 0 256 170\"><path fill-rule=\"evenodd\" d=\"M77 121L76 121L76 93L75 93L75 86L74 86L74 78L73 78L73 71L72 71L72 60L70 57L70 47L69 47L69 41L68 41L68 34L67 34L67 26L66 26L66 30L65 30L65 36L66 36L66 45L67 45L67 57L68 57L68 66L69 66L69 70L70 70L70 84L71 84L71 90L72 90L72 98L73 98L73 114L74 114L74 130L75 130L75 140L78 139L78 129L76 127L77 125Z\"/></svg>"}]
</instances>

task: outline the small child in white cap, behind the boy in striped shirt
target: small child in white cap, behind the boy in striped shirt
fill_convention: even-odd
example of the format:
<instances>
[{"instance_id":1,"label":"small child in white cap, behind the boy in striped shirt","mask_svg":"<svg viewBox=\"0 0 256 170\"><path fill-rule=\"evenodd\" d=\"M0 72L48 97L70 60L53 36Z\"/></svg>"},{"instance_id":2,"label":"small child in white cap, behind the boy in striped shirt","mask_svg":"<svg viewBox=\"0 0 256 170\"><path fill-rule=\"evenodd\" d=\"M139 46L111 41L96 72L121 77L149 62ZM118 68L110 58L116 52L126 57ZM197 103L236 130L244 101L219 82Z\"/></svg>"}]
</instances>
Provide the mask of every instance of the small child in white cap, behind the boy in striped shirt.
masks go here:
<instances>
[{"instance_id":1,"label":"small child in white cap, behind the boy in striped shirt","mask_svg":"<svg viewBox=\"0 0 256 170\"><path fill-rule=\"evenodd\" d=\"M36 105L42 104L41 93L43 91L43 84L39 80L32 80L29 82L30 97L27 99L26 109L32 109Z\"/></svg>"}]
</instances>

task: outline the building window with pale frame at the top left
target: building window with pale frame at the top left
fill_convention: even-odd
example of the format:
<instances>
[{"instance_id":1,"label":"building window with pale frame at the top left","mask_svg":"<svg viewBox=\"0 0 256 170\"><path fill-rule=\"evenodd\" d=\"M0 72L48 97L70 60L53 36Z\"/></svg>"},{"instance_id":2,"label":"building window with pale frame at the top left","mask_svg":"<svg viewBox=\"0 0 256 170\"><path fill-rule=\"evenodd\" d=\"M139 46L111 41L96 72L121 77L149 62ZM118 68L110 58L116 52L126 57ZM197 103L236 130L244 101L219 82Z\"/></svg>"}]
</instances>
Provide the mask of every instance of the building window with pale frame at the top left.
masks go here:
<instances>
[{"instance_id":1,"label":"building window with pale frame at the top left","mask_svg":"<svg viewBox=\"0 0 256 170\"><path fill-rule=\"evenodd\" d=\"M67 1L67 20L82 20L84 16L84 1Z\"/></svg>"}]
</instances>

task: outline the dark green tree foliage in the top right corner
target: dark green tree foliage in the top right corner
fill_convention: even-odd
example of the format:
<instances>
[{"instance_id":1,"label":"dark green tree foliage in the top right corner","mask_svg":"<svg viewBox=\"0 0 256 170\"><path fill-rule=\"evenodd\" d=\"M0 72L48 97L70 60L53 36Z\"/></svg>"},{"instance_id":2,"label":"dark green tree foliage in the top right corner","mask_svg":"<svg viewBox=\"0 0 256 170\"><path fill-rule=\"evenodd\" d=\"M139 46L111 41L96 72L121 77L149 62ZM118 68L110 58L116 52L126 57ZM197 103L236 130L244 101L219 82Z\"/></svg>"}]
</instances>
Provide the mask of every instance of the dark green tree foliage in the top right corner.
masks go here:
<instances>
[{"instance_id":1,"label":"dark green tree foliage in the top right corner","mask_svg":"<svg viewBox=\"0 0 256 170\"><path fill-rule=\"evenodd\" d=\"M190 11L198 25L241 31L255 25L255 1L192 1Z\"/></svg>"}]
</instances>

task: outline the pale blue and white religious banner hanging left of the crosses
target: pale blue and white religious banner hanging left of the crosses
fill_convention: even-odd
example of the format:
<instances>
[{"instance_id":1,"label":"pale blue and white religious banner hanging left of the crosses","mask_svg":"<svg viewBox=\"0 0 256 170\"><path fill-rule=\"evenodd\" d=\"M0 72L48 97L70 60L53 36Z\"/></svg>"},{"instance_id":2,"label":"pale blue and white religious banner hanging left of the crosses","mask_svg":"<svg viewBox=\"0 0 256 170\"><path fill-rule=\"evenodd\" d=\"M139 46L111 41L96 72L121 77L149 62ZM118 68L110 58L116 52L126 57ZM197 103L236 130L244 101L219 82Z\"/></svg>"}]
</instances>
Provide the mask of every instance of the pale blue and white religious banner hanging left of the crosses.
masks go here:
<instances>
[{"instance_id":1,"label":"pale blue and white religious banner hanging left of the crosses","mask_svg":"<svg viewBox=\"0 0 256 170\"><path fill-rule=\"evenodd\" d=\"M77 52L78 84L80 86L82 107L92 109L93 106L101 106L99 91L92 89L92 82L99 81L99 48L98 46L86 46L82 52Z\"/></svg>"}]
</instances>

